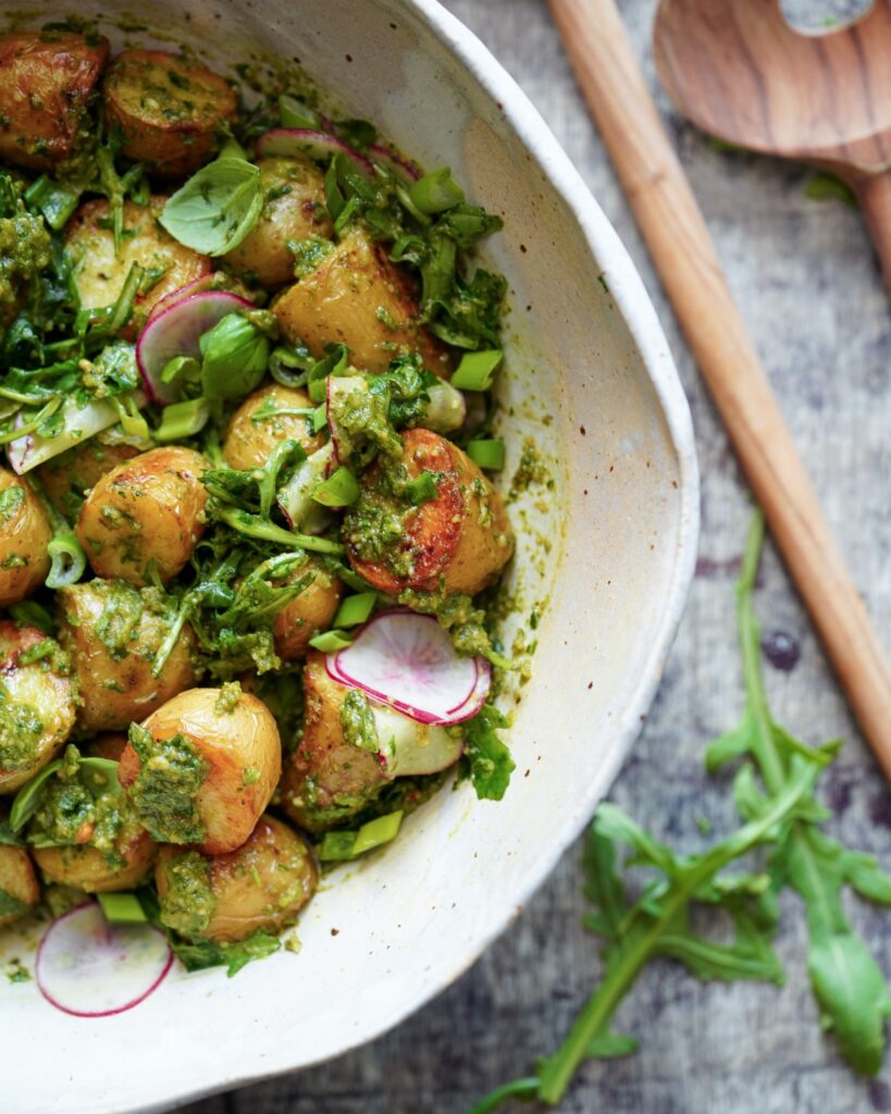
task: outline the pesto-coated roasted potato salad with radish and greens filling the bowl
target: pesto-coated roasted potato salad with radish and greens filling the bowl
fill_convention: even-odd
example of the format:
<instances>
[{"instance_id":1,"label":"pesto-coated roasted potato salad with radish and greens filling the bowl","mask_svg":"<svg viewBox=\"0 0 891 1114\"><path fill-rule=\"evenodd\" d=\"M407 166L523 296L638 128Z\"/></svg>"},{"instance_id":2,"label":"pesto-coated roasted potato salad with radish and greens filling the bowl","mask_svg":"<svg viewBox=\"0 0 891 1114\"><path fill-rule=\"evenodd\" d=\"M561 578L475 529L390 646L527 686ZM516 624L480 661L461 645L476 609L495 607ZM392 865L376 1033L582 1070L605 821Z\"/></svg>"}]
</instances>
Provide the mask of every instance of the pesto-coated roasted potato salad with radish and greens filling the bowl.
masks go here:
<instances>
[{"instance_id":1,"label":"pesto-coated roasted potato salad with radish and greens filling the bowl","mask_svg":"<svg viewBox=\"0 0 891 1114\"><path fill-rule=\"evenodd\" d=\"M0 925L80 926L69 1013L97 925L234 973L503 795L500 224L305 85L0 36Z\"/></svg>"}]
</instances>

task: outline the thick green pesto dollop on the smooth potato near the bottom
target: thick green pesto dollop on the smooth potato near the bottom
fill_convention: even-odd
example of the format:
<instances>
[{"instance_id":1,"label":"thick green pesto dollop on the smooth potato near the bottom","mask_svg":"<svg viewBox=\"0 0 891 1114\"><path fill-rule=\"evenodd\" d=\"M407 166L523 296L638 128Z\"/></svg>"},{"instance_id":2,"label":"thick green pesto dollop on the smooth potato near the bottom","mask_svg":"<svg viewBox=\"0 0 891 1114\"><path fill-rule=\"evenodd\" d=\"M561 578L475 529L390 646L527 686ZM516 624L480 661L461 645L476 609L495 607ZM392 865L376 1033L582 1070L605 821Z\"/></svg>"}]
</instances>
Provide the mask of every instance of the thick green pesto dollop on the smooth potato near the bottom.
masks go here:
<instances>
[{"instance_id":1,"label":"thick green pesto dollop on the smooth potato near the bottom","mask_svg":"<svg viewBox=\"0 0 891 1114\"><path fill-rule=\"evenodd\" d=\"M140 762L128 797L139 822L160 843L197 843L207 834L195 797L207 763L183 735L156 740L130 724L130 743Z\"/></svg>"}]
</instances>

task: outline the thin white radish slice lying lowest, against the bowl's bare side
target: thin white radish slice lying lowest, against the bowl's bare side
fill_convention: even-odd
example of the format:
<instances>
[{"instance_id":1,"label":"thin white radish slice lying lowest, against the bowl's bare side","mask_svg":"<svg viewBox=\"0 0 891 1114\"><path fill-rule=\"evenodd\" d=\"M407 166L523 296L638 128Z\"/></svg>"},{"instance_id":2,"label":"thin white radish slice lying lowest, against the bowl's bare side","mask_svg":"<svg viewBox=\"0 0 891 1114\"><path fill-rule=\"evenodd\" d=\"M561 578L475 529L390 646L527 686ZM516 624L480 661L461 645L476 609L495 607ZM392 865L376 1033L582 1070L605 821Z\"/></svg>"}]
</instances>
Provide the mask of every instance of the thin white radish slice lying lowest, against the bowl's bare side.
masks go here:
<instances>
[{"instance_id":1,"label":"thin white radish slice lying lowest, against the bowl's bare side","mask_svg":"<svg viewBox=\"0 0 891 1114\"><path fill-rule=\"evenodd\" d=\"M173 962L150 925L109 925L95 902L53 921L37 950L35 976L51 1006L75 1017L133 1009L160 986Z\"/></svg>"}]
</instances>

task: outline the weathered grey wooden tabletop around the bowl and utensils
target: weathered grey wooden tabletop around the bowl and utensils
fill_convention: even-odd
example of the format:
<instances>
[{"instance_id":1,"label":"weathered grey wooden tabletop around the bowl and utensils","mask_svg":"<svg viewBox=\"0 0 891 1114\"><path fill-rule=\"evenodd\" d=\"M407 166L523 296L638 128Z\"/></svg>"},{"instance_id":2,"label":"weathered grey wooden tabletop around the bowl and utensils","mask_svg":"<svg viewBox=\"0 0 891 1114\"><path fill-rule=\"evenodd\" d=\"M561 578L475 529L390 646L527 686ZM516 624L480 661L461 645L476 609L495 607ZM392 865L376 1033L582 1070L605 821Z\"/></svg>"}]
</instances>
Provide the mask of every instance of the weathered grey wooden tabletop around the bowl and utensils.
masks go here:
<instances>
[{"instance_id":1,"label":"weathered grey wooden tabletop around the bowl and utensils","mask_svg":"<svg viewBox=\"0 0 891 1114\"><path fill-rule=\"evenodd\" d=\"M447 2L528 91L618 228L656 302L691 400L703 471L697 577L658 700L611 797L657 836L695 848L704 840L701 818L716 834L735 823L730 785L704 776L702 756L704 743L734 723L741 706L733 578L748 522L745 486L544 3ZM653 81L655 0L625 0L621 7ZM664 96L658 100L854 579L888 644L891 310L860 217L839 202L805 196L804 169L715 149L670 114ZM767 667L776 713L811 742L849 740L825 781L825 801L836 813L830 829L891 868L888 788L772 553L762 578L765 632L786 632L801 647L794 668ZM300 1075L193 1104L188 1114L462 1114L476 1097L527 1073L549 1052L595 985L597 944L580 926L580 883L576 847L480 962L389 1036ZM891 911L852 902L850 912L891 973ZM620 1032L640 1037L640 1052L626 1061L590 1063L562 1110L891 1111L891 1056L879 1078L863 1082L820 1033L802 961L804 926L791 896L783 901L777 947L789 977L782 990L704 986L668 962L648 970L618 1018Z\"/></svg>"}]
</instances>

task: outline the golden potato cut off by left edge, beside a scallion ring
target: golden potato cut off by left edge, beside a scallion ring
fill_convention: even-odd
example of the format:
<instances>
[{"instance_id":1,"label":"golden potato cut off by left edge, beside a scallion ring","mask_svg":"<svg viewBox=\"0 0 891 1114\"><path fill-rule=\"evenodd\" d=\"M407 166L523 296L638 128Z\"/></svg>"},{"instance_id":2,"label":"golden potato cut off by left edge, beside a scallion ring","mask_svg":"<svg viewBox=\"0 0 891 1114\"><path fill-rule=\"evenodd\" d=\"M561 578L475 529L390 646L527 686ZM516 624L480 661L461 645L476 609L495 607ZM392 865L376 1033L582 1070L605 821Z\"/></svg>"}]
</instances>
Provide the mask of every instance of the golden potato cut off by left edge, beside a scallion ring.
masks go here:
<instances>
[{"instance_id":1,"label":"golden potato cut off by left edge, beside a scallion ring","mask_svg":"<svg viewBox=\"0 0 891 1114\"><path fill-rule=\"evenodd\" d=\"M0 468L0 607L30 596L46 580L52 527L31 488Z\"/></svg>"}]
</instances>

